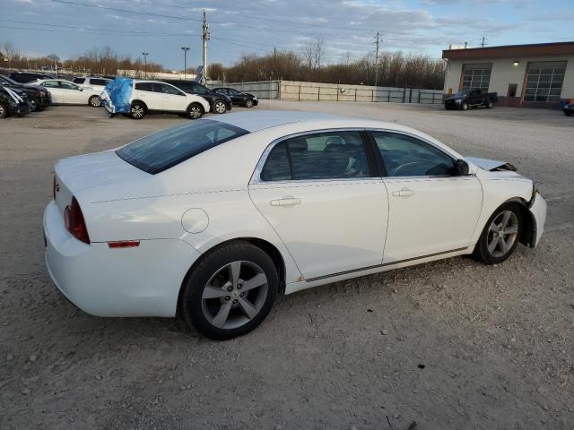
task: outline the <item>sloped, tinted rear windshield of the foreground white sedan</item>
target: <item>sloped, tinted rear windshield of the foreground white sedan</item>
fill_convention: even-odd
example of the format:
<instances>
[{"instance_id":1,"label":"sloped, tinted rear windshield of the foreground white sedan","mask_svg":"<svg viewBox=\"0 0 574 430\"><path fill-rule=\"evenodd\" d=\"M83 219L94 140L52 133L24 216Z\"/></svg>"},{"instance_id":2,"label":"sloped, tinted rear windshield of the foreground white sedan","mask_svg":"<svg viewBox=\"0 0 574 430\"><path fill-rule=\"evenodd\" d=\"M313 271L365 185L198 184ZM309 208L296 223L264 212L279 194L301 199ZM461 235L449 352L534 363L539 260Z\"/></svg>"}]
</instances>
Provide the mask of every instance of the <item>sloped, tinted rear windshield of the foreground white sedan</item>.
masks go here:
<instances>
[{"instance_id":1,"label":"sloped, tinted rear windshield of the foreground white sedan","mask_svg":"<svg viewBox=\"0 0 574 430\"><path fill-rule=\"evenodd\" d=\"M116 153L136 168L155 175L204 150L247 133L247 130L234 125L198 119L191 124L177 125L128 143Z\"/></svg>"}]
</instances>

